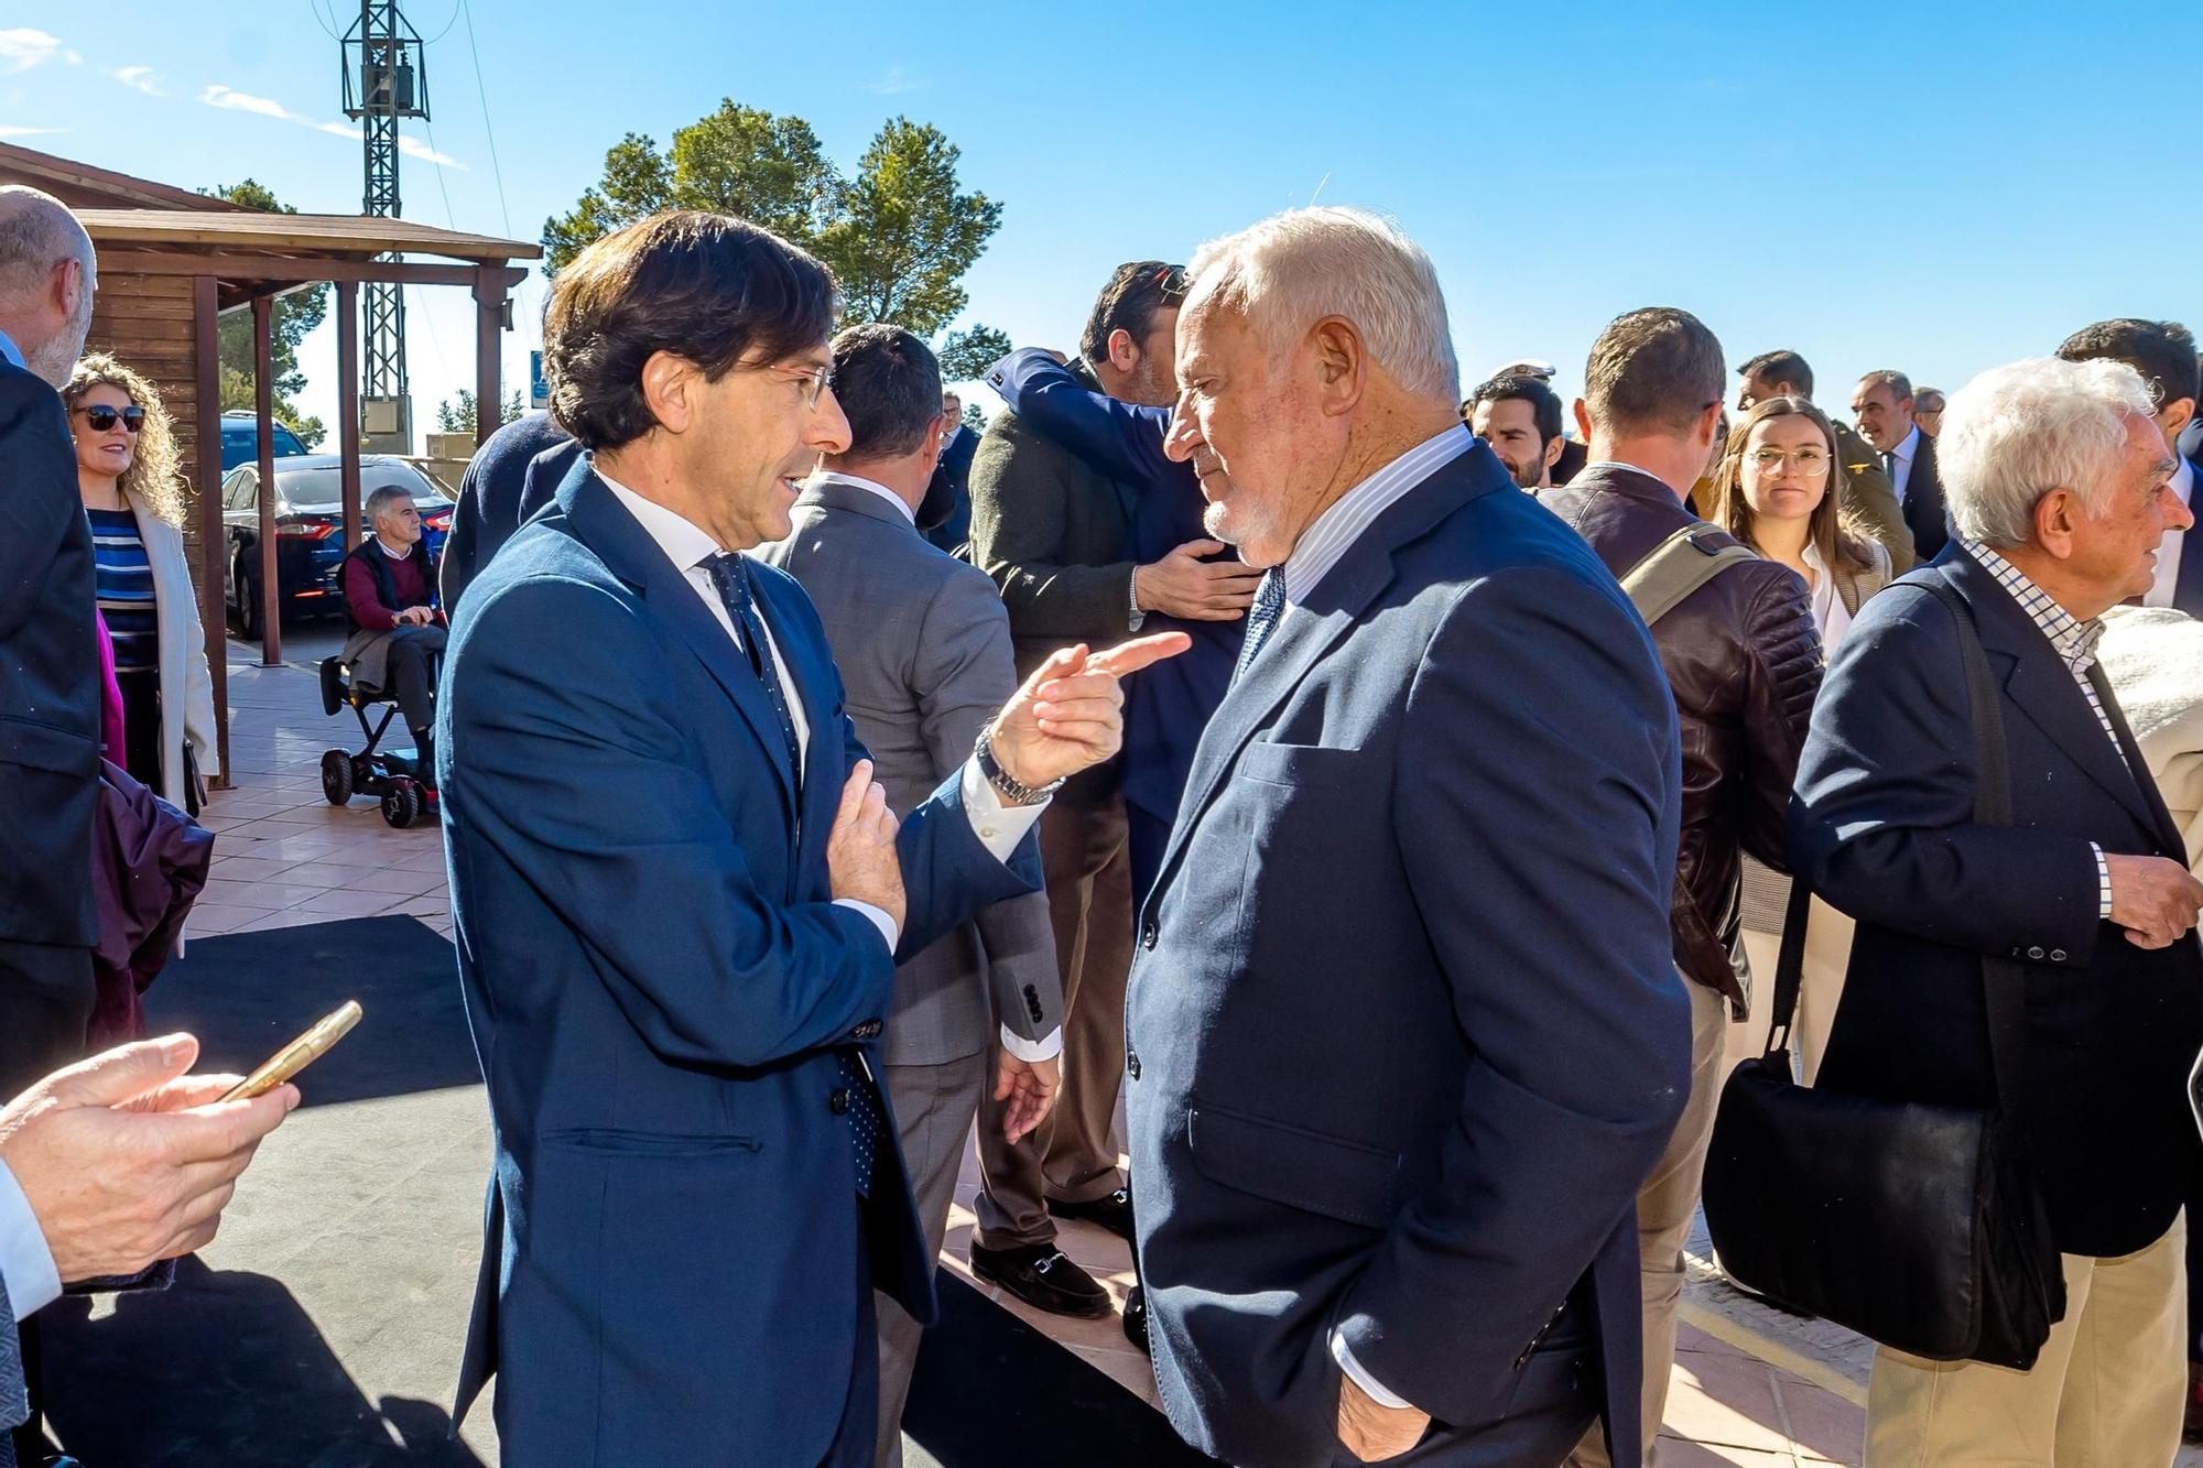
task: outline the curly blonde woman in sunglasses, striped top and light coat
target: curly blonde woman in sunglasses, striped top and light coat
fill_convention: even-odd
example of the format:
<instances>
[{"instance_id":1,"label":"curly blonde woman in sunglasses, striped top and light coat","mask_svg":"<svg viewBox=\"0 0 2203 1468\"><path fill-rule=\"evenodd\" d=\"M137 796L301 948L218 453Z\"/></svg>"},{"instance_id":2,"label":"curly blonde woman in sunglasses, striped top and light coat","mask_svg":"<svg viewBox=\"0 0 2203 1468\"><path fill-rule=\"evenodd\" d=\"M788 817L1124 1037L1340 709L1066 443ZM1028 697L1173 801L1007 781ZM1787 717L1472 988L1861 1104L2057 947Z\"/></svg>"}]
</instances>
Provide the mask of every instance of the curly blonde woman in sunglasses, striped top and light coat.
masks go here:
<instances>
[{"instance_id":1,"label":"curly blonde woman in sunglasses, striped top and light coat","mask_svg":"<svg viewBox=\"0 0 2203 1468\"><path fill-rule=\"evenodd\" d=\"M77 364L62 403L123 697L123 747L108 758L196 813L198 778L216 774L214 679L183 558L185 487L167 410L145 377L104 353Z\"/></svg>"}]
</instances>

